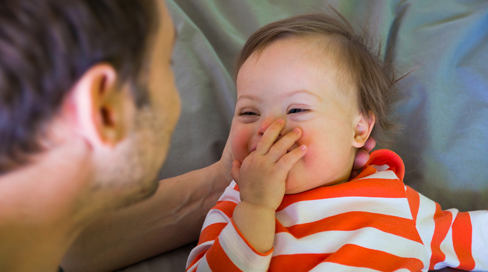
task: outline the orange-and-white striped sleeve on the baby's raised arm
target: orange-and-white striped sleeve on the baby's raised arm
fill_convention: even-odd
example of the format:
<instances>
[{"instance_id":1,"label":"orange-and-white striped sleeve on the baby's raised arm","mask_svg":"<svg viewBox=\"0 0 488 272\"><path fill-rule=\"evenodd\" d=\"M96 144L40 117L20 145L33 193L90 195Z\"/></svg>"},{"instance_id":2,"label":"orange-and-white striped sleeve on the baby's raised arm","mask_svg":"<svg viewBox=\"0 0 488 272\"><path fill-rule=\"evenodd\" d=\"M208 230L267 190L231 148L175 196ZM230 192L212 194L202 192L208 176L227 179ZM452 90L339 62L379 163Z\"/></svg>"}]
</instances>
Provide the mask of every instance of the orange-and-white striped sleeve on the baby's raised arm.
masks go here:
<instances>
[{"instance_id":1,"label":"orange-and-white striped sleeve on the baby's raised arm","mask_svg":"<svg viewBox=\"0 0 488 272\"><path fill-rule=\"evenodd\" d=\"M240 202L239 191L232 182L217 205L205 218L198 245L191 251L186 271L267 271L272 250L256 251L242 236L232 213Z\"/></svg>"}]
</instances>

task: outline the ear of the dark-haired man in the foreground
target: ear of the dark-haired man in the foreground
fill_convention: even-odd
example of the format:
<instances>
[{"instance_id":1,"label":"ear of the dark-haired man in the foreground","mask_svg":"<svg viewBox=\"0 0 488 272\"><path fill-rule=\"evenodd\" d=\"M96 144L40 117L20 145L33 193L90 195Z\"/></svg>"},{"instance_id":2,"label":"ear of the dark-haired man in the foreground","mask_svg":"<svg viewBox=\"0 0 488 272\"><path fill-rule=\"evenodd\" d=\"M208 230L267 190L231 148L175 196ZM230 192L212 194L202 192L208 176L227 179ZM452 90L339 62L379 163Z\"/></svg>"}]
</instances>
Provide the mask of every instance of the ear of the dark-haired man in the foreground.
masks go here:
<instances>
[{"instance_id":1,"label":"ear of the dark-haired man in the foreground","mask_svg":"<svg viewBox=\"0 0 488 272\"><path fill-rule=\"evenodd\" d=\"M117 87L114 67L102 63L91 67L72 89L79 133L93 146L115 146L127 133L126 95Z\"/></svg>"}]
</instances>

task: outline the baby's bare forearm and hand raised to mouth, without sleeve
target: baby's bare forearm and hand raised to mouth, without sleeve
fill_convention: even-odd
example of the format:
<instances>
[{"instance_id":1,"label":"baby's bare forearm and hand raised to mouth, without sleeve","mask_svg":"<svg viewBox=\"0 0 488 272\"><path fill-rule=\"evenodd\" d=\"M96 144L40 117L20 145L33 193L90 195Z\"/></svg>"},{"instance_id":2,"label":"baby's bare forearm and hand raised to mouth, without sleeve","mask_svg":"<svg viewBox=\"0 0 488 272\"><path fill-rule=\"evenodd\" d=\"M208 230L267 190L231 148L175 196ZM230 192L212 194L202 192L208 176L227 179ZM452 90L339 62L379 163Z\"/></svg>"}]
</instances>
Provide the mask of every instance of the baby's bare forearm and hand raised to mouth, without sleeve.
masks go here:
<instances>
[{"instance_id":1,"label":"baby's bare forearm and hand raised to mouth, without sleeve","mask_svg":"<svg viewBox=\"0 0 488 272\"><path fill-rule=\"evenodd\" d=\"M283 120L275 121L242 165L238 161L233 163L232 177L239 186L241 200L233 219L242 235L261 253L273 246L275 211L285 195L288 172L307 150L301 146L287 153L302 136L299 129L274 143L284 125Z\"/></svg>"}]
</instances>

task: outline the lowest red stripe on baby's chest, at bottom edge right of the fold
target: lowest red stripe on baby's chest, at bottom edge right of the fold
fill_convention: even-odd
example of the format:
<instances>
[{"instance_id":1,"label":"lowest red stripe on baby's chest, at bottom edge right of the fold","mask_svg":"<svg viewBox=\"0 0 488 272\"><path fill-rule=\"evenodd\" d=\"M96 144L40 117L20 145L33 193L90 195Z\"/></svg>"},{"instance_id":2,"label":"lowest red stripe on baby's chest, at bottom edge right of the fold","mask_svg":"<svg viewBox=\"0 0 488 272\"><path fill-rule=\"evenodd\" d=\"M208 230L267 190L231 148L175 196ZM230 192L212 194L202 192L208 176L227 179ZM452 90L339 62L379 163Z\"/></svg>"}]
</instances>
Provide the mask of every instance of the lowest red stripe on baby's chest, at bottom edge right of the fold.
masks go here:
<instances>
[{"instance_id":1,"label":"lowest red stripe on baby's chest, at bottom edge right of the fold","mask_svg":"<svg viewBox=\"0 0 488 272\"><path fill-rule=\"evenodd\" d=\"M365 267L384 272L402 268L417 272L424 267L422 261L416 258L402 258L380 250L352 244L342 246L326 262L352 267Z\"/></svg>"}]
</instances>

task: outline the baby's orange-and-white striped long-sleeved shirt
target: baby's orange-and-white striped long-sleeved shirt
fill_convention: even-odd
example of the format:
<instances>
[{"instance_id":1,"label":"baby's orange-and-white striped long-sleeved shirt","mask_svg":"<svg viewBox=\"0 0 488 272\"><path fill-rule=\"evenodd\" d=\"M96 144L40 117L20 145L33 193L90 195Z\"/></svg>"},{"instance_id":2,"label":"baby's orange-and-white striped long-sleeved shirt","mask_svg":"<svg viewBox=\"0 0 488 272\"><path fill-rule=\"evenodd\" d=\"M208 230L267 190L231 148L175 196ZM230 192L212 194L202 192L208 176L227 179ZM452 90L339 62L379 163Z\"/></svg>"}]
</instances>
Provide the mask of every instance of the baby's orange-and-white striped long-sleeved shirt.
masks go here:
<instances>
[{"instance_id":1,"label":"baby's orange-and-white striped long-sleeved shirt","mask_svg":"<svg viewBox=\"0 0 488 272\"><path fill-rule=\"evenodd\" d=\"M285 195L266 254L232 221L240 201L232 182L186 271L488 271L488 211L442 210L405 186L404 172L400 157L382 149L349 182Z\"/></svg>"}]
</instances>

